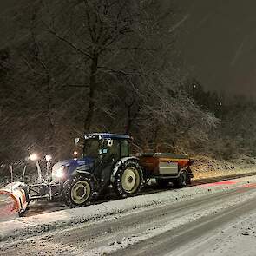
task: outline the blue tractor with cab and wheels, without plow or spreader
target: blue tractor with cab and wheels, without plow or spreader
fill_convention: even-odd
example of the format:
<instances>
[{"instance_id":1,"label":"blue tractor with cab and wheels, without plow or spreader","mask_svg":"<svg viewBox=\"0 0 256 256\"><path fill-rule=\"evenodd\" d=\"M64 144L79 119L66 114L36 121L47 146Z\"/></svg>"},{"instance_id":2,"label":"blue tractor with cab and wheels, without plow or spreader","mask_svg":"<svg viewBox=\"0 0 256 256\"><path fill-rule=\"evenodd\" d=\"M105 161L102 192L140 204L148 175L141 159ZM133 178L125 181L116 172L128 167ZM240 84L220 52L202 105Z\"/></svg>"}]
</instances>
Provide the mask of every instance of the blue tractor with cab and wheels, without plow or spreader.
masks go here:
<instances>
[{"instance_id":1,"label":"blue tractor with cab and wheels, without plow or spreader","mask_svg":"<svg viewBox=\"0 0 256 256\"><path fill-rule=\"evenodd\" d=\"M89 134L75 138L75 158L52 167L51 194L69 207L89 205L110 185L121 198L138 194L143 171L130 156L128 135Z\"/></svg>"}]
</instances>

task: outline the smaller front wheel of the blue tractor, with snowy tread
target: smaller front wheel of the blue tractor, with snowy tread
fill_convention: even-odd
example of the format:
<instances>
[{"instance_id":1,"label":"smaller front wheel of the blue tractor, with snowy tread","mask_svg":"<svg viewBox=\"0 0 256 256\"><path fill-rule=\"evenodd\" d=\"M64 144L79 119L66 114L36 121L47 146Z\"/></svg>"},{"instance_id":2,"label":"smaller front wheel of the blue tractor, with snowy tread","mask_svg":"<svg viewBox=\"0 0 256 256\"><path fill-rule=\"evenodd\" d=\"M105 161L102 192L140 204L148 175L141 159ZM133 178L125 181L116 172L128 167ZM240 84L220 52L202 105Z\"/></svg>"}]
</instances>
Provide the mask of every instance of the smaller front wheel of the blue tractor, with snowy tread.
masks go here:
<instances>
[{"instance_id":1,"label":"smaller front wheel of the blue tractor, with snowy tread","mask_svg":"<svg viewBox=\"0 0 256 256\"><path fill-rule=\"evenodd\" d=\"M89 176L77 175L63 186L63 200L70 208L88 206L95 194L94 181Z\"/></svg>"}]
</instances>

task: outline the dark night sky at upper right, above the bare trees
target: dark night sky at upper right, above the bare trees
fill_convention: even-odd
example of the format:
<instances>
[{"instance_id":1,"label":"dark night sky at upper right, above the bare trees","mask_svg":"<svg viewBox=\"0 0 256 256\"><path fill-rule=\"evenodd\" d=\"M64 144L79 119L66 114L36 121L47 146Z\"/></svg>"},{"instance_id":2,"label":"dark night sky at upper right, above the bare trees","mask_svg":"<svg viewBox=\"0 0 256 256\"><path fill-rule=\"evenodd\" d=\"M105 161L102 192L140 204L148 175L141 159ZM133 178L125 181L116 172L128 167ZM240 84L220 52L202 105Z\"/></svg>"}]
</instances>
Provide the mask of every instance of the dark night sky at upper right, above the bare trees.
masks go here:
<instances>
[{"instance_id":1,"label":"dark night sky at upper right, above the bare trees","mask_svg":"<svg viewBox=\"0 0 256 256\"><path fill-rule=\"evenodd\" d=\"M1 0L1 12L16 1ZM184 13L177 46L194 77L207 89L256 96L256 1L175 2Z\"/></svg>"}]
</instances>

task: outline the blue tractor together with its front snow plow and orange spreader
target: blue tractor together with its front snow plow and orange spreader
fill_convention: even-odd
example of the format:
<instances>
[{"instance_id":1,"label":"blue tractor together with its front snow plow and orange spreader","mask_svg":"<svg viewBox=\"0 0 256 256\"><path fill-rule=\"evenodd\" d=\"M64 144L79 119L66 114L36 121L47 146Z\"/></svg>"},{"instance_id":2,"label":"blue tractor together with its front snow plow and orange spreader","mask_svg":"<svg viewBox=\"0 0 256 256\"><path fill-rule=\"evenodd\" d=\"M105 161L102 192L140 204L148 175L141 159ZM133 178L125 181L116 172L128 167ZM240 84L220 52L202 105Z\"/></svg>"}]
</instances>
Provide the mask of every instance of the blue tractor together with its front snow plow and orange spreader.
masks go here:
<instances>
[{"instance_id":1,"label":"blue tractor together with its front snow plow and orange spreader","mask_svg":"<svg viewBox=\"0 0 256 256\"><path fill-rule=\"evenodd\" d=\"M23 213L30 200L38 199L63 200L69 207L84 207L108 187L121 198L134 196L151 178L161 187L169 182L177 187L190 183L193 174L189 166L193 161L187 154L146 153L135 157L130 154L130 142L129 135L107 133L75 138L73 159L59 161L50 169L50 157L46 157L45 180L36 157L31 155L36 161L38 183L14 182L0 189L0 194L10 194L18 213Z\"/></svg>"}]
</instances>

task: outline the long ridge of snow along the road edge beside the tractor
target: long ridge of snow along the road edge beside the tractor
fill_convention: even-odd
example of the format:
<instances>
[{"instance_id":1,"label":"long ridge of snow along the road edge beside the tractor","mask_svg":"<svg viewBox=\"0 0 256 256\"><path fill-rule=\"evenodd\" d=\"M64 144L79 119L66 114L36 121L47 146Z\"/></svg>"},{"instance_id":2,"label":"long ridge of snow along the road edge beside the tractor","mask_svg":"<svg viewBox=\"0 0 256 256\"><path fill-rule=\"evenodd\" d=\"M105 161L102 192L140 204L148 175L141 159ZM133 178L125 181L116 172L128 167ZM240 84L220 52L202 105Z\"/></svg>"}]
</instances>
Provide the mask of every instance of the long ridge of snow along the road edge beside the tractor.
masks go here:
<instances>
[{"instance_id":1,"label":"long ridge of snow along the road edge beside the tractor","mask_svg":"<svg viewBox=\"0 0 256 256\"><path fill-rule=\"evenodd\" d=\"M156 194L144 194L124 200L108 201L89 207L66 209L58 212L5 221L1 222L0 225L0 240L43 233L49 230L87 222L89 220L98 220L115 213L125 213L141 207L190 200L203 194L217 193L226 189L240 187L247 183L256 183L256 176L244 177L229 182L222 181L214 184L214 186L202 185L174 189Z\"/></svg>"}]
</instances>

